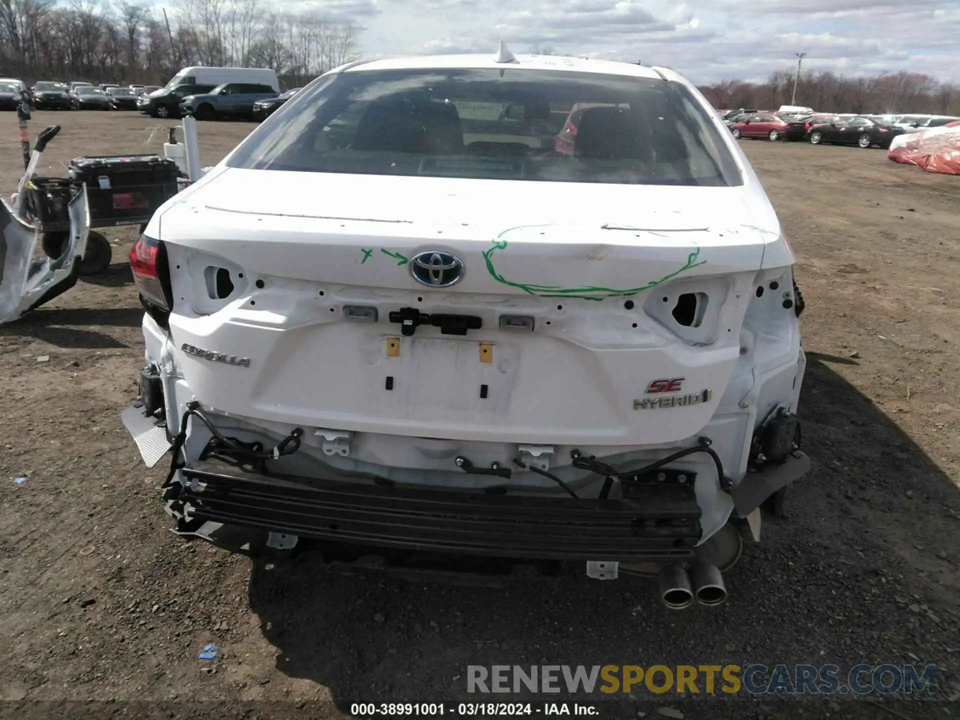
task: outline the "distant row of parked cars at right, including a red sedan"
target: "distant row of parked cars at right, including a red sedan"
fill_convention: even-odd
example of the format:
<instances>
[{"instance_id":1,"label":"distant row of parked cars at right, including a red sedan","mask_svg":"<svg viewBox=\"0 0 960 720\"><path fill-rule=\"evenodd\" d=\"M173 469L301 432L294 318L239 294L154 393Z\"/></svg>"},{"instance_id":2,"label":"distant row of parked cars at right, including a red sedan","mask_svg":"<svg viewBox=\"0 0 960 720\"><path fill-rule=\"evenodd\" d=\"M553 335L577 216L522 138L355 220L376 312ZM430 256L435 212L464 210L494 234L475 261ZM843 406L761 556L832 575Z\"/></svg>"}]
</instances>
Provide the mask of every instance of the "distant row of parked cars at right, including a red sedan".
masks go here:
<instances>
[{"instance_id":1,"label":"distant row of parked cars at right, including a red sedan","mask_svg":"<svg viewBox=\"0 0 960 720\"><path fill-rule=\"evenodd\" d=\"M719 110L734 137L767 140L806 140L887 149L894 137L960 121L948 115L856 115L766 110Z\"/></svg>"}]
</instances>

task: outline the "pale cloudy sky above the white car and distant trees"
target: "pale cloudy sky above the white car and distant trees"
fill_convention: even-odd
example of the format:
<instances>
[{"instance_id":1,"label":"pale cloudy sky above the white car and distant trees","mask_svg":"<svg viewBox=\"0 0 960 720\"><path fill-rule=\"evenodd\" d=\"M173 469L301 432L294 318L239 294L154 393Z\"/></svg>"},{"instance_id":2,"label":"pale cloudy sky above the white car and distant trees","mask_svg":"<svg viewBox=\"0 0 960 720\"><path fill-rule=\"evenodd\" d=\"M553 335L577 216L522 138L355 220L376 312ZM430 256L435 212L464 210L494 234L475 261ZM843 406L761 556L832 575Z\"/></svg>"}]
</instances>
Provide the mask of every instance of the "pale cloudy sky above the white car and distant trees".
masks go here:
<instances>
[{"instance_id":1,"label":"pale cloudy sky above the white car and distant trees","mask_svg":"<svg viewBox=\"0 0 960 720\"><path fill-rule=\"evenodd\" d=\"M698 84L795 67L960 82L960 0L300 0L365 28L364 57L514 52L669 65Z\"/></svg>"}]
</instances>

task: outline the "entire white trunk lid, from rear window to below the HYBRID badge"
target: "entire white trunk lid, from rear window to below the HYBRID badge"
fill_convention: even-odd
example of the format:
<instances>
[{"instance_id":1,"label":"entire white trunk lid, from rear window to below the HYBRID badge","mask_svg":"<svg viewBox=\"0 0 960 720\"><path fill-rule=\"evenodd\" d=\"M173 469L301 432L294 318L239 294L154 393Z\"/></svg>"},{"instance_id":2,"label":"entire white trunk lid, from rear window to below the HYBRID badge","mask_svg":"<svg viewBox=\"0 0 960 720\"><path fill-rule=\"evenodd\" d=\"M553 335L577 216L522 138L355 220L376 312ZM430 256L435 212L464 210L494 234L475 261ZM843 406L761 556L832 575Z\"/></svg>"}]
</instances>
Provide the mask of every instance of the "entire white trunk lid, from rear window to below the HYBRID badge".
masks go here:
<instances>
[{"instance_id":1,"label":"entire white trunk lid, from rear window to below the HYBRID badge","mask_svg":"<svg viewBox=\"0 0 960 720\"><path fill-rule=\"evenodd\" d=\"M254 419L676 443L716 412L765 243L780 235L751 189L218 168L159 215L178 365L204 404ZM418 282L410 266L424 251L455 254L463 278ZM205 289L210 266L235 285L221 300ZM673 312L682 297L693 302L685 324ZM352 322L353 305L378 320ZM394 316L411 310L480 327L427 323L407 336ZM663 378L680 381L648 394Z\"/></svg>"}]
</instances>

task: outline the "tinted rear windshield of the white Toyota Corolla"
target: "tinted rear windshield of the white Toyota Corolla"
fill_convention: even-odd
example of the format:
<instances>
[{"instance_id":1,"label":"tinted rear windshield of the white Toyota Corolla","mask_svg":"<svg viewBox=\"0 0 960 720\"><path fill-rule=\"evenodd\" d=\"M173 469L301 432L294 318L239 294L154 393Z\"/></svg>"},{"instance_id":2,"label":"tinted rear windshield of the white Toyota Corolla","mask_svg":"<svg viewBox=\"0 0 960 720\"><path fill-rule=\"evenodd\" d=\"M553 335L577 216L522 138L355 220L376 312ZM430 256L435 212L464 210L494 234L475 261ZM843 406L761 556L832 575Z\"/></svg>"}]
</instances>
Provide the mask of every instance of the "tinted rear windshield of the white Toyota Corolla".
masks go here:
<instances>
[{"instance_id":1,"label":"tinted rear windshield of the white Toyota Corolla","mask_svg":"<svg viewBox=\"0 0 960 720\"><path fill-rule=\"evenodd\" d=\"M350 71L301 90L228 166L361 175L741 184L677 83L516 68Z\"/></svg>"}]
</instances>

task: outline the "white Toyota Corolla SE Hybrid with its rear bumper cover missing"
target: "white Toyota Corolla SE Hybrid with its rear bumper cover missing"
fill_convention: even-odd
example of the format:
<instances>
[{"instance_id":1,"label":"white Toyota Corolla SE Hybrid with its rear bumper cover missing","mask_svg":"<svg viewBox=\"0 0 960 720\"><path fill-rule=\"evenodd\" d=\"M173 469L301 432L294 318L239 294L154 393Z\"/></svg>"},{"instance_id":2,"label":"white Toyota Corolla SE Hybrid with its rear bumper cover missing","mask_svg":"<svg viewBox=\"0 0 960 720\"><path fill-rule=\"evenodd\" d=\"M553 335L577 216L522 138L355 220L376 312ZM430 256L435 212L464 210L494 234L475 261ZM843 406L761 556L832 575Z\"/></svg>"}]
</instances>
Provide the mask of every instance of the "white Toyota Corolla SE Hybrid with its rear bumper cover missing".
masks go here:
<instances>
[{"instance_id":1,"label":"white Toyota Corolla SE Hybrid with its rear bumper cover missing","mask_svg":"<svg viewBox=\"0 0 960 720\"><path fill-rule=\"evenodd\" d=\"M655 572L681 609L723 602L743 527L808 468L793 253L667 69L505 48L338 68L131 263L124 420L148 465L172 452L181 533Z\"/></svg>"}]
</instances>

